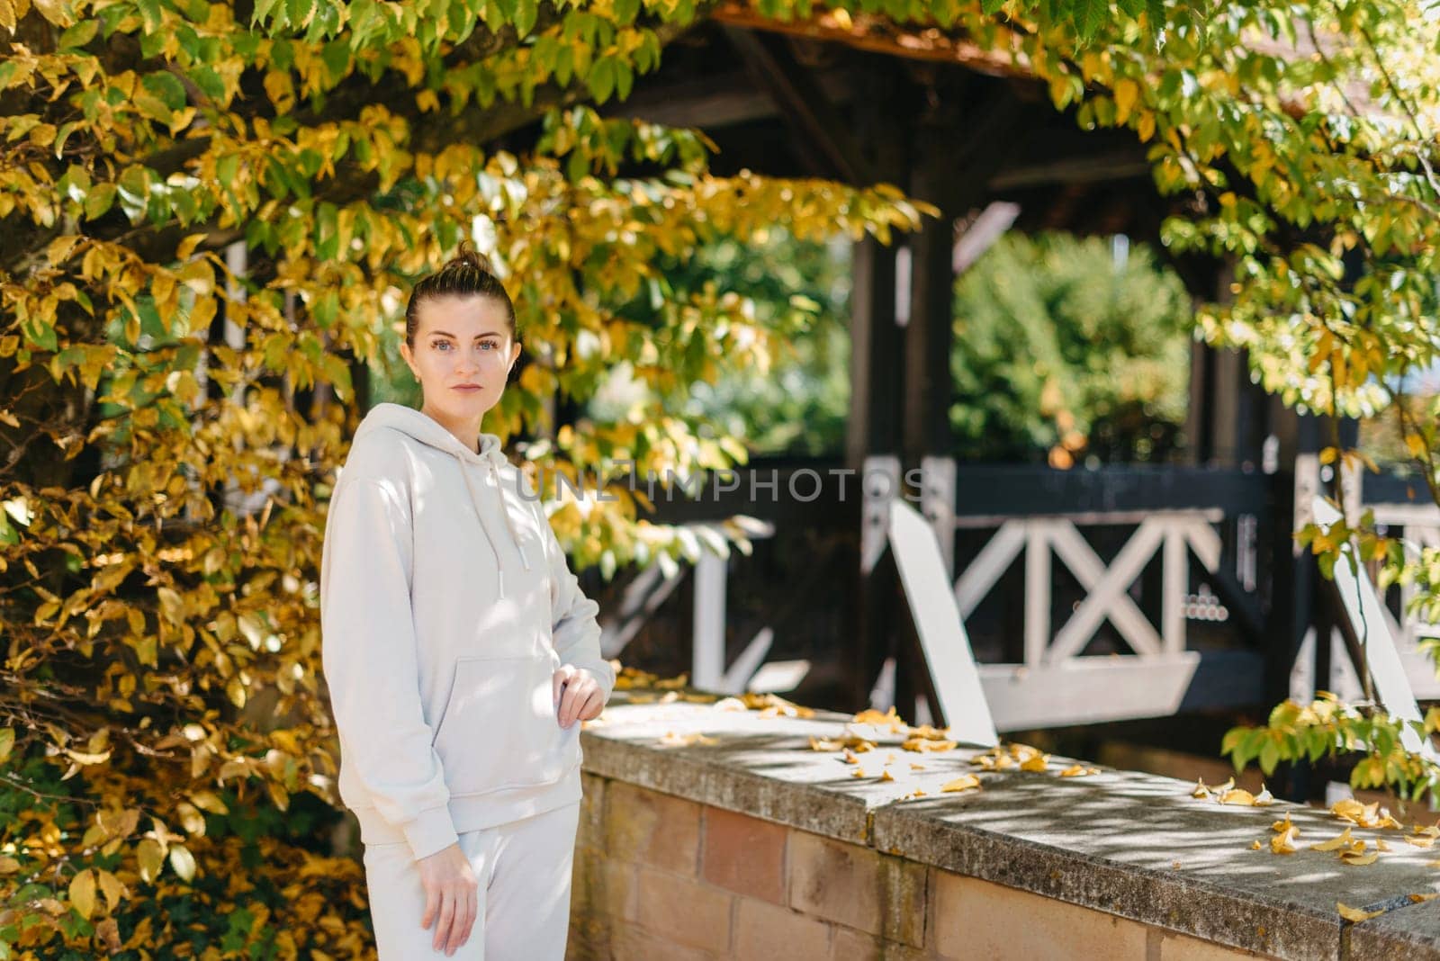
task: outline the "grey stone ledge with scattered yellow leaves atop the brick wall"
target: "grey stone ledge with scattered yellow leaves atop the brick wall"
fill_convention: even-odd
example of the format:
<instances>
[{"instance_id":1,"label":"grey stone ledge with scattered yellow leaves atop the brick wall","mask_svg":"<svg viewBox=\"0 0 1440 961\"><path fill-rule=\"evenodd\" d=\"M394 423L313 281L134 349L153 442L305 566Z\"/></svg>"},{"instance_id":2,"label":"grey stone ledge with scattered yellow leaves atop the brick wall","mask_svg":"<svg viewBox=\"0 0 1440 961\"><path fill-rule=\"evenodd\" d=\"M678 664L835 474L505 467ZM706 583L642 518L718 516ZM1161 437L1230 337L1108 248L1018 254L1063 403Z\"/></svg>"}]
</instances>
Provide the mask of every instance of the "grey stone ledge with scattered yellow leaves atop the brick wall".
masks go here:
<instances>
[{"instance_id":1,"label":"grey stone ledge with scattered yellow leaves atop the brick wall","mask_svg":"<svg viewBox=\"0 0 1440 961\"><path fill-rule=\"evenodd\" d=\"M914 754L881 741L861 767L894 752L896 781L854 778L838 754L811 751L808 738L835 737L848 715L762 718L710 705L625 703L616 692L605 716L586 725L585 770L605 778L750 814L805 832L861 843L959 875L1032 892L1176 931L1211 944L1279 958L1434 958L1440 961L1440 870L1400 832L1391 852L1368 866L1345 866L1309 844L1345 824L1326 811L1277 803L1223 807L1192 798L1191 784L1133 771L1102 770L1060 778L1050 771L981 773L984 787L943 794L975 750ZM706 734L714 744L662 747L667 732ZM910 762L924 765L910 771ZM900 800L916 788L924 797ZM1290 814L1300 850L1272 855L1270 823ZM1264 850L1251 850L1260 840ZM1346 924L1342 901L1390 909Z\"/></svg>"}]
</instances>

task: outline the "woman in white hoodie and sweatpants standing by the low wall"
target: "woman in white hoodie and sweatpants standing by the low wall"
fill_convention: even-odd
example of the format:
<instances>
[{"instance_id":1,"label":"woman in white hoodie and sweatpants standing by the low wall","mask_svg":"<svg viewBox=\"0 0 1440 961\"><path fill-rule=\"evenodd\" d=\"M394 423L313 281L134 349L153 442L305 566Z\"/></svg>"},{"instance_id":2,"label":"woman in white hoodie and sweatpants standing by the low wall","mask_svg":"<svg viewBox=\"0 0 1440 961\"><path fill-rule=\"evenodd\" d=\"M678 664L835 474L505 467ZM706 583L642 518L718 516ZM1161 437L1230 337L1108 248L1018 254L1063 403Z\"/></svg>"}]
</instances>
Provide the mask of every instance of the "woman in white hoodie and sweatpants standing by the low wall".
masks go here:
<instances>
[{"instance_id":1,"label":"woman in white hoodie and sweatpants standing by the low wall","mask_svg":"<svg viewBox=\"0 0 1440 961\"><path fill-rule=\"evenodd\" d=\"M405 318L423 404L364 417L325 522L340 797L360 820L382 961L559 961L579 722L600 714L615 673L598 606L481 432L520 357L504 286L462 247L415 286Z\"/></svg>"}]
</instances>

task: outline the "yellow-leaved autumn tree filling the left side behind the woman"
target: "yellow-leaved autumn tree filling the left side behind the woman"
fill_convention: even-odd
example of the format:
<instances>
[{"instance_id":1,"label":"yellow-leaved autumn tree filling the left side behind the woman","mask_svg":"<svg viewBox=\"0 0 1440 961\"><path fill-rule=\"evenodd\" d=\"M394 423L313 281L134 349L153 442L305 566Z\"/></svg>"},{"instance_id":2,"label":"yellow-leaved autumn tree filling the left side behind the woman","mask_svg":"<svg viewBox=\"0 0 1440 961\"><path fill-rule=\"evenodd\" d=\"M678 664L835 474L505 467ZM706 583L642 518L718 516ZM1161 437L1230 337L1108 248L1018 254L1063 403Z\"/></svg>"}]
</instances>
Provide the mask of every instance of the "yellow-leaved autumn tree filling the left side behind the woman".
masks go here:
<instances>
[{"instance_id":1,"label":"yellow-leaved autumn tree filling the left side behind the woman","mask_svg":"<svg viewBox=\"0 0 1440 961\"><path fill-rule=\"evenodd\" d=\"M766 360L772 329L720 291L611 309L662 255L917 223L893 187L714 177L701 134L579 102L626 95L694 14L0 0L0 952L363 944L359 872L324 843L324 502L351 371L459 237L541 358L487 422L508 436L619 358L657 397ZM537 119L533 151L485 148ZM554 434L550 483L743 456L658 401ZM580 564L694 548L631 499L553 524Z\"/></svg>"}]
</instances>

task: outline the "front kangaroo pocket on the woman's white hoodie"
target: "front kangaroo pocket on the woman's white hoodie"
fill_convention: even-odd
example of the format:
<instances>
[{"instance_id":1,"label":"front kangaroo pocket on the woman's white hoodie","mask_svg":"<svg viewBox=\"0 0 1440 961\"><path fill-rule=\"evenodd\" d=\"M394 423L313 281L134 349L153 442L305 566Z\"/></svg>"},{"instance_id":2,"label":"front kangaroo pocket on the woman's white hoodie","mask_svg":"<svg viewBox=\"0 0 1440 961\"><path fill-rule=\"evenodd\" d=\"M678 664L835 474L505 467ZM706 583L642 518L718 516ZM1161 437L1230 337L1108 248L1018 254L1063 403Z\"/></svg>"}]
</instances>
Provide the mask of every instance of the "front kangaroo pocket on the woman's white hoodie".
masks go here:
<instances>
[{"instance_id":1,"label":"front kangaroo pocket on the woman's white hoodie","mask_svg":"<svg viewBox=\"0 0 1440 961\"><path fill-rule=\"evenodd\" d=\"M580 758L580 725L562 728L549 657L459 657L435 732L451 794L537 787Z\"/></svg>"}]
</instances>

